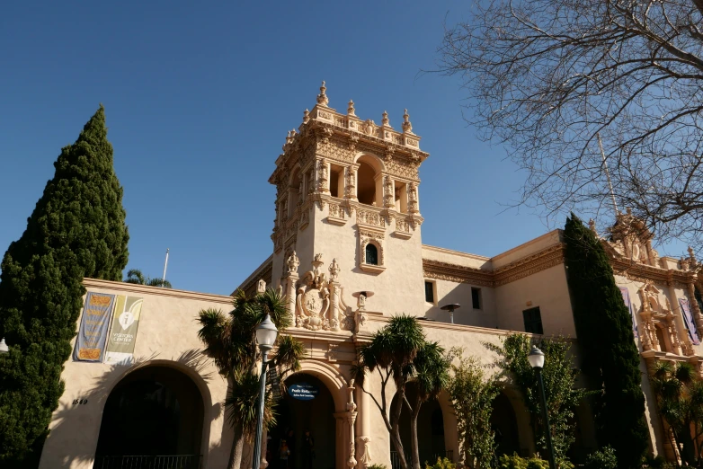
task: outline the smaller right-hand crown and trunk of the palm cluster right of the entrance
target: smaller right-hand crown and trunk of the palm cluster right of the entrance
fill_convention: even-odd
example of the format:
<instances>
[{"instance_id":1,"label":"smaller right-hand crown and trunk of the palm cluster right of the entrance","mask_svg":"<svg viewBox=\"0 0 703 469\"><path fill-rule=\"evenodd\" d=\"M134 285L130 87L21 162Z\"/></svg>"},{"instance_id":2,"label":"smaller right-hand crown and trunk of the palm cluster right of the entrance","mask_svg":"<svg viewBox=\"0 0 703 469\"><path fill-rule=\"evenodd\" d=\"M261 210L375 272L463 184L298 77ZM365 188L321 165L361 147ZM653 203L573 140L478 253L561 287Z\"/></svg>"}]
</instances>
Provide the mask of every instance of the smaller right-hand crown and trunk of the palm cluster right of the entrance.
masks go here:
<instances>
[{"instance_id":1,"label":"smaller right-hand crown and trunk of the palm cluster right of the entrance","mask_svg":"<svg viewBox=\"0 0 703 469\"><path fill-rule=\"evenodd\" d=\"M410 456L413 469L420 469L420 447L417 440L417 417L423 403L437 399L440 391L449 385L451 360L438 342L425 342L414 360L414 379L409 383L415 388L415 399L410 409Z\"/></svg>"}]
</instances>

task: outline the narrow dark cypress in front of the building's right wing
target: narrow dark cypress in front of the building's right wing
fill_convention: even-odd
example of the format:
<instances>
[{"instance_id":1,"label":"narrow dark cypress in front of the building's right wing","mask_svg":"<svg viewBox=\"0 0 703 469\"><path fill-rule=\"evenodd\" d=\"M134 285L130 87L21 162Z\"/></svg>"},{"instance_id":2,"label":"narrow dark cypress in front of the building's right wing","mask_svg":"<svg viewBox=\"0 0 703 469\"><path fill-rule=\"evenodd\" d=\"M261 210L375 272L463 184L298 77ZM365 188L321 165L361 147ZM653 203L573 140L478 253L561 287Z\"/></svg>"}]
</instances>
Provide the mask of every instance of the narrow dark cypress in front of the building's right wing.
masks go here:
<instances>
[{"instance_id":1,"label":"narrow dark cypress in front of the building's right wing","mask_svg":"<svg viewBox=\"0 0 703 469\"><path fill-rule=\"evenodd\" d=\"M649 437L632 319L598 238L574 214L566 219L564 236L582 370L601 390L597 437L601 446L615 449L619 468L639 468Z\"/></svg>"}]
</instances>

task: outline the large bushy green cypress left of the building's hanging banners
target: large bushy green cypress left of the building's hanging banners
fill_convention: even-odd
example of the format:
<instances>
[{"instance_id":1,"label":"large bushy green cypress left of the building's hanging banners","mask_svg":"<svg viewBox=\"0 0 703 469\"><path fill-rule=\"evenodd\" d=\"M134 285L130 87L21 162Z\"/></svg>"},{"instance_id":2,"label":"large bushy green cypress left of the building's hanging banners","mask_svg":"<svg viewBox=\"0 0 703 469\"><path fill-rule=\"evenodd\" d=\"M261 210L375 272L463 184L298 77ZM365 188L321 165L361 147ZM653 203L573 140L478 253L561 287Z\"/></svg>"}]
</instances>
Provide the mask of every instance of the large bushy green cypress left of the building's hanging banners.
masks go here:
<instances>
[{"instance_id":1,"label":"large bushy green cypress left of the building's hanging banners","mask_svg":"<svg viewBox=\"0 0 703 469\"><path fill-rule=\"evenodd\" d=\"M38 465L85 295L83 278L120 280L129 235L102 105L61 150L0 275L0 466Z\"/></svg>"}]
</instances>

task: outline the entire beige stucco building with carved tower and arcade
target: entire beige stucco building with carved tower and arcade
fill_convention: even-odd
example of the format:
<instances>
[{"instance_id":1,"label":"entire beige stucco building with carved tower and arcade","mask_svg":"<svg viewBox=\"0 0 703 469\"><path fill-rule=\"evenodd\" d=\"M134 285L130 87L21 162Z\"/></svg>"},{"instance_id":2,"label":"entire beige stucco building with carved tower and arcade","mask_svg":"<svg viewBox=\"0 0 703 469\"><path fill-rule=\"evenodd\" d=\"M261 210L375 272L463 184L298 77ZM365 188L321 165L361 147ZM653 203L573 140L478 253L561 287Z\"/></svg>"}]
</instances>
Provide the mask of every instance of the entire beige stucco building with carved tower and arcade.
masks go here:
<instances>
[{"instance_id":1,"label":"entire beige stucco building with carved tower and arcade","mask_svg":"<svg viewBox=\"0 0 703 469\"><path fill-rule=\"evenodd\" d=\"M323 84L316 106L304 112L276 159L269 180L277 188L271 256L240 288L254 292L263 280L286 296L295 323L289 333L307 348L302 370L287 376L287 383L309 385L317 393L309 401L284 398L271 445L284 427L293 430L298 442L308 428L316 438L316 468L390 468L392 448L383 420L351 379L356 348L398 313L422 317L430 340L446 349L463 347L486 365L495 357L484 343L498 344L512 332L576 340L562 232L549 232L492 258L423 244L419 174L429 155L421 149L407 111L398 129L387 113L378 125L357 117L353 102L345 112L335 111L325 92ZM658 258L651 236L627 229L635 222L627 214L618 217L603 243L619 285L627 290L624 296L639 332L652 450L671 453L664 446L667 438L646 365L654 359L699 364L703 349L691 340L680 301L688 302L692 321L702 330L694 298L699 264L692 255L687 260ZM54 413L41 467L119 467L111 464L121 456L156 446L170 452L162 456L192 455L182 460L192 467L226 467L233 438L222 406L227 382L200 354L195 319L201 309L227 311L231 297L93 279L85 279L85 287L143 300L133 358L67 363L66 392ZM448 304L461 305L453 317L440 309ZM378 393L378 377L369 376L366 386ZM129 420L120 409L144 395L153 405L144 408L142 420ZM150 427L154 422L144 417L149 412L171 419L168 435L157 437L162 431L156 423ZM421 458L448 455L456 460L457 423L447 396L425 404L422 412ZM575 458L595 447L589 413L585 408L577 412ZM496 400L494 428L506 452L534 450L529 415L510 387ZM137 443L113 454L120 445L111 441L125 435ZM158 441L152 443L152 438ZM271 456L276 457L275 451ZM294 460L299 462L299 455Z\"/></svg>"}]
</instances>

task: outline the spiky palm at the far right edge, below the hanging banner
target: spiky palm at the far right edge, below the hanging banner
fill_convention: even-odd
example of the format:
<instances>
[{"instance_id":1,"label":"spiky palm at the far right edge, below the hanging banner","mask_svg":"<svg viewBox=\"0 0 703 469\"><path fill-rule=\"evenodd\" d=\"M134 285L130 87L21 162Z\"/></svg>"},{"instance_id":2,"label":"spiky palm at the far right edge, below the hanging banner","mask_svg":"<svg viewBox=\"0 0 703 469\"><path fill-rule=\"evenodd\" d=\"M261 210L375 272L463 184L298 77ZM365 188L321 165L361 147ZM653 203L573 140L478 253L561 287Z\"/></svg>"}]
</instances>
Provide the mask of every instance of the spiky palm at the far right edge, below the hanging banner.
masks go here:
<instances>
[{"instance_id":1,"label":"spiky palm at the far right edge, below the hanging banner","mask_svg":"<svg viewBox=\"0 0 703 469\"><path fill-rule=\"evenodd\" d=\"M703 380L690 363L665 361L656 362L651 380L681 459L698 467L703 452Z\"/></svg>"}]
</instances>

